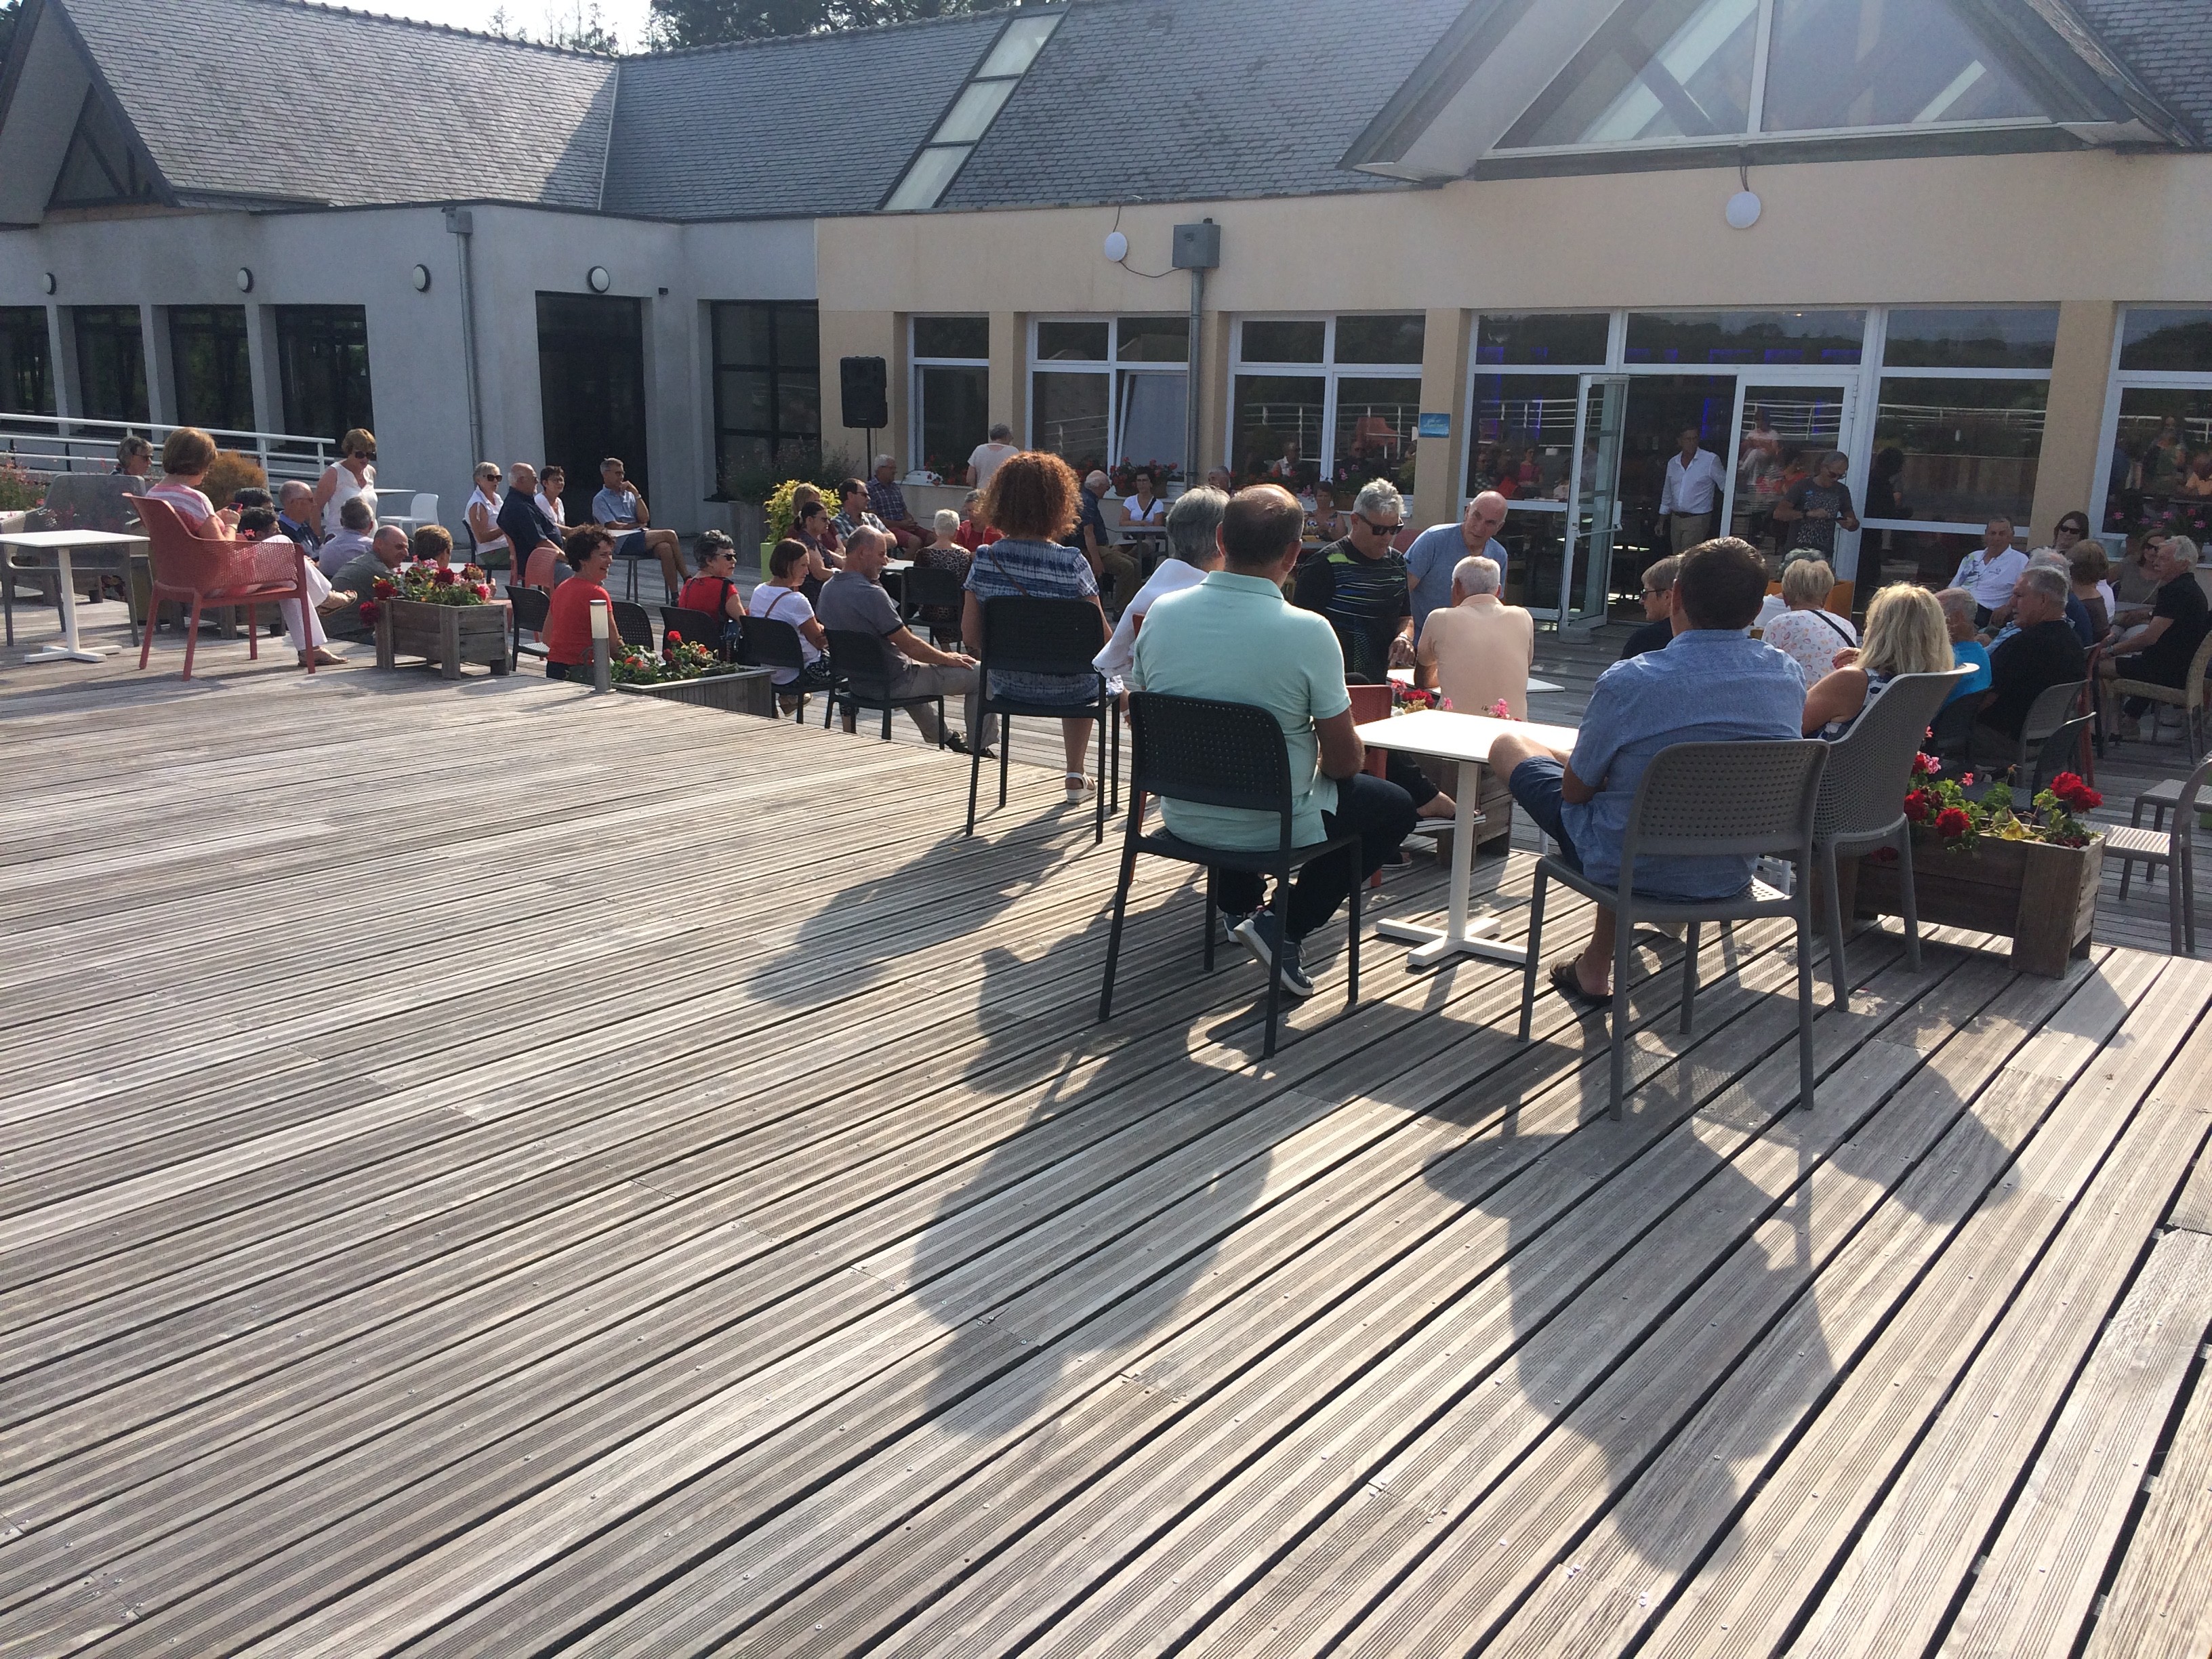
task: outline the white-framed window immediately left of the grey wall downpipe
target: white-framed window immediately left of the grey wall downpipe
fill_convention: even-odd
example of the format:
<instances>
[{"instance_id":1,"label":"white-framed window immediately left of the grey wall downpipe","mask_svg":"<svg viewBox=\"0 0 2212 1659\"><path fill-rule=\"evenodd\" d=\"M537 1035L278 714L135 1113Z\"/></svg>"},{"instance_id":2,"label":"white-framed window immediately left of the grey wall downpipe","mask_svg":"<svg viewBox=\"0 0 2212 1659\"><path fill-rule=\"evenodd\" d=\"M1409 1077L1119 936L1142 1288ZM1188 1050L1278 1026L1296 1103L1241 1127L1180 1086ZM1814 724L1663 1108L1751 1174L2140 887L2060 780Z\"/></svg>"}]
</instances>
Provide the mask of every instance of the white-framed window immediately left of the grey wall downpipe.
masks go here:
<instances>
[{"instance_id":1,"label":"white-framed window immediately left of the grey wall downpipe","mask_svg":"<svg viewBox=\"0 0 2212 1659\"><path fill-rule=\"evenodd\" d=\"M1029 442L1077 476L1150 467L1181 478L1190 316L1037 316L1029 323Z\"/></svg>"}]
</instances>

